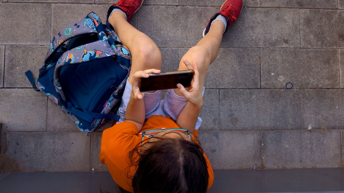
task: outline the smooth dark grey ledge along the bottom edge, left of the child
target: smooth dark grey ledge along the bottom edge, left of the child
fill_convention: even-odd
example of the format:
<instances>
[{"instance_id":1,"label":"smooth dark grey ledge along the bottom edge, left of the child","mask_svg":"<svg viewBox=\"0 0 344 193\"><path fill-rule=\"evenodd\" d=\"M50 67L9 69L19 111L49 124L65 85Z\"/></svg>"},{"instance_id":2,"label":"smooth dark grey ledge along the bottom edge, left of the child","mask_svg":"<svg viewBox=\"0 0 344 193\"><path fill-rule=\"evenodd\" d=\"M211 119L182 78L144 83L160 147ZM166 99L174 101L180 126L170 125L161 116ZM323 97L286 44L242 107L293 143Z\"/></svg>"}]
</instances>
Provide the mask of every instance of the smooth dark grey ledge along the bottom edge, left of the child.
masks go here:
<instances>
[{"instance_id":1,"label":"smooth dark grey ledge along the bottom edge, left of the child","mask_svg":"<svg viewBox=\"0 0 344 193\"><path fill-rule=\"evenodd\" d=\"M109 172L15 172L0 180L2 193L119 193Z\"/></svg>"}]
</instances>

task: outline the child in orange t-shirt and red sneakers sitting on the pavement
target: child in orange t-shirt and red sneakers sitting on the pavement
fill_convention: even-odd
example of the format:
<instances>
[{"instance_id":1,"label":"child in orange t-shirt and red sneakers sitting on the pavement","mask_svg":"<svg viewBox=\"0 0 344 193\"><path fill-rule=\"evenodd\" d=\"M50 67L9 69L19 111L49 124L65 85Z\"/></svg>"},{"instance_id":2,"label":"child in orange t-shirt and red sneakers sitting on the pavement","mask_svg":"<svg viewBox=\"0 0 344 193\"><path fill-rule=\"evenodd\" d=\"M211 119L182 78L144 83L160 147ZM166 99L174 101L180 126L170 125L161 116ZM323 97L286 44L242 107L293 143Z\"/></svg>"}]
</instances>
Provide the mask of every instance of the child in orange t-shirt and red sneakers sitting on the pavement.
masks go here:
<instances>
[{"instance_id":1,"label":"child in orange t-shirt and red sneakers sitting on the pavement","mask_svg":"<svg viewBox=\"0 0 344 193\"><path fill-rule=\"evenodd\" d=\"M122 191L206 192L213 183L211 164L197 141L204 79L222 35L239 16L242 0L227 0L208 22L200 42L182 57L178 70L195 71L191 87L139 91L139 79L160 73L161 53L147 35L128 21L143 0L119 0L108 11L108 25L132 56L130 76L118 111L121 119L103 132L100 160ZM124 190L123 190L124 189Z\"/></svg>"}]
</instances>

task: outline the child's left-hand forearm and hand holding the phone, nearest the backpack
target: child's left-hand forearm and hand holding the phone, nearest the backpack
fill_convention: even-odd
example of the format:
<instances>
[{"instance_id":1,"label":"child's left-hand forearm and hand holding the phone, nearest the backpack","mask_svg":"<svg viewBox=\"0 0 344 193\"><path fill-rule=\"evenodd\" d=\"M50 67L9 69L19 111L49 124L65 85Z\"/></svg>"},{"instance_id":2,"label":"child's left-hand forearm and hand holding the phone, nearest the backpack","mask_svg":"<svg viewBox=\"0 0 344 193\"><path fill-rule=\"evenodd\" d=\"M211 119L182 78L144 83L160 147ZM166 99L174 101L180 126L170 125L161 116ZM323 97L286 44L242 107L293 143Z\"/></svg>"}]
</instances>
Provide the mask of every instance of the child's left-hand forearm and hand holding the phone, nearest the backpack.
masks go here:
<instances>
[{"instance_id":1,"label":"child's left-hand forearm and hand holding the phone, nearest the backpack","mask_svg":"<svg viewBox=\"0 0 344 193\"><path fill-rule=\"evenodd\" d=\"M125 121L135 123L139 132L142 129L144 118L146 116L143 102L144 92L140 92L139 80L140 78L148 78L149 73L160 73L160 70L149 69L144 71L137 71L131 78L132 91L126 110Z\"/></svg>"}]
</instances>

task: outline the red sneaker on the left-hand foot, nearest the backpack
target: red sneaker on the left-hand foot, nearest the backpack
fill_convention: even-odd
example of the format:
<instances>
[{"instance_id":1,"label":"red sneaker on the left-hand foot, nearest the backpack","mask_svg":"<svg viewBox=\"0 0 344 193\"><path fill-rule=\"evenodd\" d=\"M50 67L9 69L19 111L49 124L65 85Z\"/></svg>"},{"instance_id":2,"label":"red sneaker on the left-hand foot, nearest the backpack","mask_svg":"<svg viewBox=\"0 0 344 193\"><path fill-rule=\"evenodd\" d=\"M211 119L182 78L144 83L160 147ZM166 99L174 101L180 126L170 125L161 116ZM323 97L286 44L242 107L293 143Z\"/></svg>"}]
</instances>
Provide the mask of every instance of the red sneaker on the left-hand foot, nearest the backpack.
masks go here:
<instances>
[{"instance_id":1,"label":"red sneaker on the left-hand foot, nearest the backpack","mask_svg":"<svg viewBox=\"0 0 344 193\"><path fill-rule=\"evenodd\" d=\"M129 21L131 16L140 9L142 4L143 4L143 0L119 0L118 3L110 6L108 10L108 14L107 14L107 20L109 20L109 16L112 10L115 7L117 7L126 13L127 21Z\"/></svg>"}]
</instances>

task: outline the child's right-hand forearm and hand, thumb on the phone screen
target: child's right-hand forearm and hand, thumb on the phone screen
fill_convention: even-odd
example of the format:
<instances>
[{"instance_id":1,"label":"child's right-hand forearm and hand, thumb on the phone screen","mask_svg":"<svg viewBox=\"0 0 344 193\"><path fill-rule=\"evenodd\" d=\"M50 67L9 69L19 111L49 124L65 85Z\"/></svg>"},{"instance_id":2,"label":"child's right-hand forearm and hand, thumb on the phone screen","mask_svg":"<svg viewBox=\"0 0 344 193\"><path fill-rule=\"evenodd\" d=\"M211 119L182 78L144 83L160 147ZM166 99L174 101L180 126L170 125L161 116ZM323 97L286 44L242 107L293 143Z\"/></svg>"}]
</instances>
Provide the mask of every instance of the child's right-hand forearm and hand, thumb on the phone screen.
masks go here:
<instances>
[{"instance_id":1,"label":"child's right-hand forearm and hand, thumb on the phone screen","mask_svg":"<svg viewBox=\"0 0 344 193\"><path fill-rule=\"evenodd\" d=\"M186 59L185 59L186 60ZM191 67L189 61L184 61L185 65ZM191 89L187 91L182 84L177 84L179 91L189 101L177 118L177 125L180 128L189 129L192 133L195 129L198 115L203 106L202 90L199 83L199 71L196 61L193 63L194 77L191 81Z\"/></svg>"}]
</instances>

